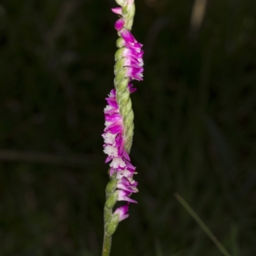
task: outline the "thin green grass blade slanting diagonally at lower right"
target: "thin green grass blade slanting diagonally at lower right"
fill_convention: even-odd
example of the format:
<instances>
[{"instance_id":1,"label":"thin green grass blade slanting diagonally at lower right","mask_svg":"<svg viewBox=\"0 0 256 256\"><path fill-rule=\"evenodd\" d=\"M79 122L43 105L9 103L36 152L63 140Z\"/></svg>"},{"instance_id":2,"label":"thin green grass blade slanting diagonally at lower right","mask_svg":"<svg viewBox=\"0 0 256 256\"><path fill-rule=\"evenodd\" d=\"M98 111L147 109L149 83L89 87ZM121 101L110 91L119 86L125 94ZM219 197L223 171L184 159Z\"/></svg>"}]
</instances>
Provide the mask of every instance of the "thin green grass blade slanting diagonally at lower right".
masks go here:
<instances>
[{"instance_id":1,"label":"thin green grass blade slanting diagonally at lower right","mask_svg":"<svg viewBox=\"0 0 256 256\"><path fill-rule=\"evenodd\" d=\"M230 253L224 248L224 246L220 243L214 234L212 234L211 230L205 225L205 223L200 219L200 217L196 214L195 211L189 206L189 204L179 195L179 193L174 193L175 198L182 204L182 206L188 211L191 217L198 223L198 225L204 230L207 236L210 237L212 242L218 247L221 253L225 256L231 256Z\"/></svg>"}]
</instances>

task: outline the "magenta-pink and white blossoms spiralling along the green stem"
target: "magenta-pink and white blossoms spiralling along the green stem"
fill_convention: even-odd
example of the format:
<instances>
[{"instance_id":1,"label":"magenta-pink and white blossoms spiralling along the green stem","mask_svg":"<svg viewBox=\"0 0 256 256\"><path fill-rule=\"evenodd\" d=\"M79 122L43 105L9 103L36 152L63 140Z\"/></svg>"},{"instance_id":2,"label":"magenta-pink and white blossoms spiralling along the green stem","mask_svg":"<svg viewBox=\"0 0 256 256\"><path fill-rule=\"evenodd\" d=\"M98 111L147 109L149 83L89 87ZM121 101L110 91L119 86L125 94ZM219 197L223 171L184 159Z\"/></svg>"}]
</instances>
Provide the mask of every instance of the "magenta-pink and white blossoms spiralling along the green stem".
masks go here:
<instances>
[{"instance_id":1,"label":"magenta-pink and white blossoms spiralling along the green stem","mask_svg":"<svg viewBox=\"0 0 256 256\"><path fill-rule=\"evenodd\" d=\"M127 4L133 3L132 0L127 0L126 2ZM118 50L118 54L122 56L122 68L125 70L125 77L129 78L128 88L129 92L132 93L136 91L136 88L133 88L130 82L134 79L143 80L142 44L137 42L131 31L125 28L122 8L113 8L112 11L121 16L115 23L115 29L121 38L121 47ZM119 221L122 221L129 216L127 214L129 203L137 203L130 196L132 193L138 192L136 188L138 182L133 180L136 168L131 164L129 154L125 150L124 123L116 100L115 89L111 90L106 100L108 102L104 109L106 127L104 134L102 134L104 138L104 153L108 155L106 163L111 161L109 175L112 176L114 173L116 175L116 200L127 202L127 204L118 207L113 212L113 214L118 214Z\"/></svg>"}]
</instances>

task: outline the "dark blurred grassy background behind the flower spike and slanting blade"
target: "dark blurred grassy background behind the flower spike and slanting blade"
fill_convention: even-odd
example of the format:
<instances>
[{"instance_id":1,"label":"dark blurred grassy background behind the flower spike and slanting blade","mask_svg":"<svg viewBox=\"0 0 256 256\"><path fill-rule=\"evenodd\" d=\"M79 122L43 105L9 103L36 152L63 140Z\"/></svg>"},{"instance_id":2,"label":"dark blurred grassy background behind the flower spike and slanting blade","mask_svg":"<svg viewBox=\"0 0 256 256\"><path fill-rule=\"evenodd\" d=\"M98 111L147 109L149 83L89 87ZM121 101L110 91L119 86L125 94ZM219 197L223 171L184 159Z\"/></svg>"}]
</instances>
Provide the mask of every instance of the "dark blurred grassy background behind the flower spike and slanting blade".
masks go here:
<instances>
[{"instance_id":1,"label":"dark blurred grassy background behind the flower spike and slanting blade","mask_svg":"<svg viewBox=\"0 0 256 256\"><path fill-rule=\"evenodd\" d=\"M256 252L256 1L136 0L140 193L112 256ZM113 0L2 0L0 255L100 255Z\"/></svg>"}]
</instances>

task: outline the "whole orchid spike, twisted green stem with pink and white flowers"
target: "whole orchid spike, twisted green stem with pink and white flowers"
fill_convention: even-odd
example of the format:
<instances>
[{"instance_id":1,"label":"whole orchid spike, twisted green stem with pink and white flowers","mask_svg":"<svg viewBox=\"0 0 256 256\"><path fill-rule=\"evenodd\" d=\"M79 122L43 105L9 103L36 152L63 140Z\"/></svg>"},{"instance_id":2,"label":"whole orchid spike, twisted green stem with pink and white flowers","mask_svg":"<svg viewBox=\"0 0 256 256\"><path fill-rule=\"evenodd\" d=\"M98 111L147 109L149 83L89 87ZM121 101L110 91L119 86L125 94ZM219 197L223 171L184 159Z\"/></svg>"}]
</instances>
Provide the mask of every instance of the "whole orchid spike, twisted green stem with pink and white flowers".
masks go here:
<instances>
[{"instance_id":1,"label":"whole orchid spike, twisted green stem with pink and white flowers","mask_svg":"<svg viewBox=\"0 0 256 256\"><path fill-rule=\"evenodd\" d=\"M102 255L109 255L106 253L108 237L113 235L118 223L129 216L129 204L137 203L131 199L131 195L138 192L138 182L133 180L136 167L131 164L129 157L134 130L130 94L136 91L132 86L132 80L143 80L143 45L131 33L135 13L134 0L116 0L116 3L121 7L112 9L112 12L119 16L115 22L119 36L116 42L118 50L115 54L115 89L111 90L106 98L108 104L104 109L105 129L102 134L111 178L106 188ZM124 201L125 204L113 212L117 201Z\"/></svg>"}]
</instances>

